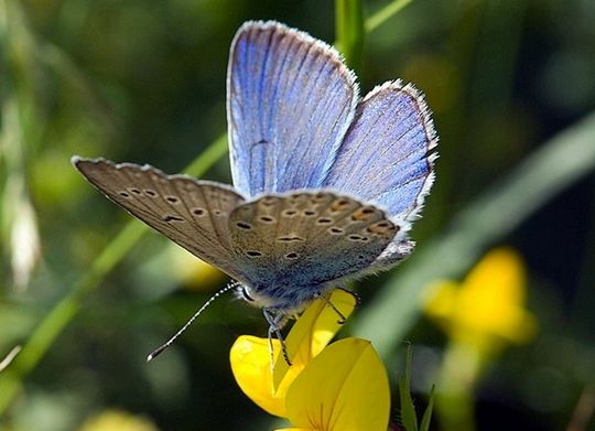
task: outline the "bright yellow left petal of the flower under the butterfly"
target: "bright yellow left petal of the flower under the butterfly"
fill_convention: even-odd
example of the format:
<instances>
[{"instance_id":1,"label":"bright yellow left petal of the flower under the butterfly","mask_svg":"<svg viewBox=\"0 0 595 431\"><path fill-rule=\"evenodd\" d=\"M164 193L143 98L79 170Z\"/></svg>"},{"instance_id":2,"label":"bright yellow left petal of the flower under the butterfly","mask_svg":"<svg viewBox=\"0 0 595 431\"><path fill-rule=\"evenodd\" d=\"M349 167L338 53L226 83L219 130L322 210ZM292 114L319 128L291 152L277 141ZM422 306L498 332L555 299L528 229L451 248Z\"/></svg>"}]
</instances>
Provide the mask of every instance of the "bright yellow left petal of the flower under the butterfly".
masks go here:
<instances>
[{"instance_id":1,"label":"bright yellow left petal of the flower under the butterfly","mask_svg":"<svg viewBox=\"0 0 595 431\"><path fill-rule=\"evenodd\" d=\"M280 343L273 340L274 352ZM268 340L242 335L236 340L229 352L231 371L240 389L259 407L271 414L285 417L284 394L277 394L272 387L271 364Z\"/></svg>"}]
</instances>

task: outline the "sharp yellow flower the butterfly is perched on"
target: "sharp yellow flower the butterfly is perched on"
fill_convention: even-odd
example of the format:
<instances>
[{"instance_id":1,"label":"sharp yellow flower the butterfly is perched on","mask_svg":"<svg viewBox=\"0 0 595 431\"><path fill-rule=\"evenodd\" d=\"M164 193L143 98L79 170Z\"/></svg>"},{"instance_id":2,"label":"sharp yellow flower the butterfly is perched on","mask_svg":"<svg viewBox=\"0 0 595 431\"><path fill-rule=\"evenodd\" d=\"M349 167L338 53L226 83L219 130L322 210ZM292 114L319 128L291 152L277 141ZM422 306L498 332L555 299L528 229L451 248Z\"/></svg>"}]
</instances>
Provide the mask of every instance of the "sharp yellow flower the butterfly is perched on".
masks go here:
<instances>
[{"instance_id":1,"label":"sharp yellow flower the butterfly is perched on","mask_svg":"<svg viewBox=\"0 0 595 431\"><path fill-rule=\"evenodd\" d=\"M355 306L353 295L342 290L333 291L329 301L346 317ZM365 340L326 347L339 327L327 302L315 301L286 337L291 366L274 341L272 374L268 341L239 337L230 352L238 385L258 406L296 427L285 430L386 431L390 390L382 362Z\"/></svg>"}]
</instances>

